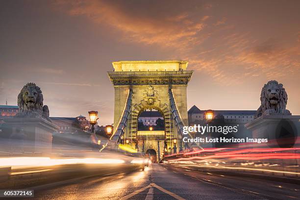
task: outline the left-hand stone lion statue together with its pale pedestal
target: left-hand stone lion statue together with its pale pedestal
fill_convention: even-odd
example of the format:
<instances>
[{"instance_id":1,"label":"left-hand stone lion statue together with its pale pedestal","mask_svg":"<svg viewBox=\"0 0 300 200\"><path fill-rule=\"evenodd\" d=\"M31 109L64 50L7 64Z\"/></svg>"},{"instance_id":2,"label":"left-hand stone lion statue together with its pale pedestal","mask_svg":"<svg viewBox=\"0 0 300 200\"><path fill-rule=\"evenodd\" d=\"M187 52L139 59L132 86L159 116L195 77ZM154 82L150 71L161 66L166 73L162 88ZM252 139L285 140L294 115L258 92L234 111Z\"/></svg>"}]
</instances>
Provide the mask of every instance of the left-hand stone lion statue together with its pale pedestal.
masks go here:
<instances>
[{"instance_id":1,"label":"left-hand stone lion statue together with its pale pedestal","mask_svg":"<svg viewBox=\"0 0 300 200\"><path fill-rule=\"evenodd\" d=\"M52 124L48 106L43 105L42 91L35 83L23 87L18 95L18 107L15 117L3 119L8 152L29 156L51 153L52 133L58 127Z\"/></svg>"}]
</instances>

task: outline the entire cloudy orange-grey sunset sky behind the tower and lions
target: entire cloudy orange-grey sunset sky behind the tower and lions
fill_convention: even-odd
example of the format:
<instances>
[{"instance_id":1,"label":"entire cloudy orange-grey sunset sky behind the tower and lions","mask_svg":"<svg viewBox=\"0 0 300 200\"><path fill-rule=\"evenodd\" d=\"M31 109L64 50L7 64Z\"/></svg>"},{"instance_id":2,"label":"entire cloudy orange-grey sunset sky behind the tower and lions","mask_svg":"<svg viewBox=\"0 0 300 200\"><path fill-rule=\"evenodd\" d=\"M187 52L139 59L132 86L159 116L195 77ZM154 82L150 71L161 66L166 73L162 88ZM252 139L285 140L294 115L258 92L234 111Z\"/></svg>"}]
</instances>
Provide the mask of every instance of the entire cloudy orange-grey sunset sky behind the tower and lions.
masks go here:
<instances>
[{"instance_id":1,"label":"entire cloudy orange-grey sunset sky behind the tower and lions","mask_svg":"<svg viewBox=\"0 0 300 200\"><path fill-rule=\"evenodd\" d=\"M299 0L0 0L0 104L27 82L50 116L113 123L119 60L188 60L188 109L256 110L269 80L300 114Z\"/></svg>"}]
</instances>

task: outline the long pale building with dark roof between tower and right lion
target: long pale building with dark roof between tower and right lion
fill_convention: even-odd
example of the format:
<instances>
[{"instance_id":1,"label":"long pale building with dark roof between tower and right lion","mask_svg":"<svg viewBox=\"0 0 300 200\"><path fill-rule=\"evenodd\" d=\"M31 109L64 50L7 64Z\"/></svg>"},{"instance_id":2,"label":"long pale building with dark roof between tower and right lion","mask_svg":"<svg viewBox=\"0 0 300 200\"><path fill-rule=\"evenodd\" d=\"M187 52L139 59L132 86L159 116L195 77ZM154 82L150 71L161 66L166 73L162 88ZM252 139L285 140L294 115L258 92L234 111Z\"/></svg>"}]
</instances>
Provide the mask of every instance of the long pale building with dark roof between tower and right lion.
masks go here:
<instances>
[{"instance_id":1,"label":"long pale building with dark roof between tower and right lion","mask_svg":"<svg viewBox=\"0 0 300 200\"><path fill-rule=\"evenodd\" d=\"M206 120L205 112L206 110L200 110L196 105L193 105L188 111L189 124ZM246 124L254 120L255 113L256 110L213 110L214 117L223 115L225 123Z\"/></svg>"}]
</instances>

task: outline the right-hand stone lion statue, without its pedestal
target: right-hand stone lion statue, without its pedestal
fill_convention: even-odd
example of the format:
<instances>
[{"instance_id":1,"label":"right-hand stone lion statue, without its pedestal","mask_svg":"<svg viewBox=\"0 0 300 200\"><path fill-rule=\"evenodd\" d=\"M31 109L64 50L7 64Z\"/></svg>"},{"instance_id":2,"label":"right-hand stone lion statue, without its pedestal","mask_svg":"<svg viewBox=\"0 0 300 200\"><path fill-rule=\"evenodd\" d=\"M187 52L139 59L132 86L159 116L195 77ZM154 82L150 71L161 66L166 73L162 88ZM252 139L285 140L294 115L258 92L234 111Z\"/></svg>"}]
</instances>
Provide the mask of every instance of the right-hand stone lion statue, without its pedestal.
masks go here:
<instances>
[{"instance_id":1,"label":"right-hand stone lion statue, without its pedestal","mask_svg":"<svg viewBox=\"0 0 300 200\"><path fill-rule=\"evenodd\" d=\"M276 80L270 80L261 90L261 105L256 111L255 118L263 114L291 115L290 111L286 109L287 99L283 85Z\"/></svg>"}]
</instances>

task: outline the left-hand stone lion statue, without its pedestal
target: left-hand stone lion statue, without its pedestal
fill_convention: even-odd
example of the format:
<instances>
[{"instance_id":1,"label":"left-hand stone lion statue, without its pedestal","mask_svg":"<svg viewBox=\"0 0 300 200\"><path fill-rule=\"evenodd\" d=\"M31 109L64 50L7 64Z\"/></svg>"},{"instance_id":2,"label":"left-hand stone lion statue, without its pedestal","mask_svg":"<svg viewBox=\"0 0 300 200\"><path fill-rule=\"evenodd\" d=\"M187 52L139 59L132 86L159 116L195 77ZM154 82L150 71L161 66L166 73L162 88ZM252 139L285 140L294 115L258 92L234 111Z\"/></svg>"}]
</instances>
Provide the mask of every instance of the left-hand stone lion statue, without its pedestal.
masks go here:
<instances>
[{"instance_id":1,"label":"left-hand stone lion statue, without its pedestal","mask_svg":"<svg viewBox=\"0 0 300 200\"><path fill-rule=\"evenodd\" d=\"M18 95L19 111L16 117L45 118L50 121L49 108L43 105L43 94L35 83L27 83Z\"/></svg>"}]
</instances>

